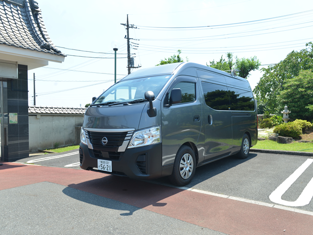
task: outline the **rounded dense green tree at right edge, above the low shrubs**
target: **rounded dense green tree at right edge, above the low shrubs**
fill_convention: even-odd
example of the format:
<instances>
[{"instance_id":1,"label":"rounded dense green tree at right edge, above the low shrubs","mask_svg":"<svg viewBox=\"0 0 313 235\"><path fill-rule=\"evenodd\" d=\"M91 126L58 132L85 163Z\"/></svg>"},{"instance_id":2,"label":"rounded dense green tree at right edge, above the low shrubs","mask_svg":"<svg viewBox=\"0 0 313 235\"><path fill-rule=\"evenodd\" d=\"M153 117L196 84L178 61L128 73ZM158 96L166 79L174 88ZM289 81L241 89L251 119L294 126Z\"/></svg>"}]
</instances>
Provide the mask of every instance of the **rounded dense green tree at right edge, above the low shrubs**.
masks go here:
<instances>
[{"instance_id":1,"label":"rounded dense green tree at right edge, above the low shrubs","mask_svg":"<svg viewBox=\"0 0 313 235\"><path fill-rule=\"evenodd\" d=\"M288 105L291 118L312 121L313 113L306 107L313 103L313 72L302 70L298 76L288 79L278 99L280 107Z\"/></svg>"}]
</instances>

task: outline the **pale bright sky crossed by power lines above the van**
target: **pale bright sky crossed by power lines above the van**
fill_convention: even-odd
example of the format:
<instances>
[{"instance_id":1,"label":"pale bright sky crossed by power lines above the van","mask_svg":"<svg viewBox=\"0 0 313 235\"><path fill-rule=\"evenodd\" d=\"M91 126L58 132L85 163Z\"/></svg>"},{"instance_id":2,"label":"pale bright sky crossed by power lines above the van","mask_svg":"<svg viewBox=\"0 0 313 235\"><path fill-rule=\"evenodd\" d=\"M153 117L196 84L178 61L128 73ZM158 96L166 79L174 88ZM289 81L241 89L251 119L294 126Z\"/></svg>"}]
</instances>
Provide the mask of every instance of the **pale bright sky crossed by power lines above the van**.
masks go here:
<instances>
[{"instance_id":1,"label":"pale bright sky crossed by power lines above the van","mask_svg":"<svg viewBox=\"0 0 313 235\"><path fill-rule=\"evenodd\" d=\"M127 15L134 66L153 67L178 54L202 65L227 52L256 56L261 68L284 60L313 41L312 0L37 0L52 43L67 55L63 63L28 71L28 103L36 106L85 107L127 70ZM86 52L90 51L90 52ZM91 53L97 52L97 53ZM97 57L97 58L89 58ZM132 69L137 71L139 69ZM251 71L251 88L262 77Z\"/></svg>"}]
</instances>

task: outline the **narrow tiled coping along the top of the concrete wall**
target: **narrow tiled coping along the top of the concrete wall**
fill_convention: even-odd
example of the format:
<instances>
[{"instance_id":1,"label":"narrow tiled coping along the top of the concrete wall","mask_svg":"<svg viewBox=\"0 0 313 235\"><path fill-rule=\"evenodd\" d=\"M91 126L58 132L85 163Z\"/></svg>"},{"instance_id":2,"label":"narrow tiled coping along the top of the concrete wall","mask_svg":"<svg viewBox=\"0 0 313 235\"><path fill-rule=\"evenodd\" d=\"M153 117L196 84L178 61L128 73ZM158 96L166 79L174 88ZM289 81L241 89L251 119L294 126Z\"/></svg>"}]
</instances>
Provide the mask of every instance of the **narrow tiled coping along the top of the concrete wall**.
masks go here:
<instances>
[{"instance_id":1,"label":"narrow tiled coping along the top of the concrete wall","mask_svg":"<svg viewBox=\"0 0 313 235\"><path fill-rule=\"evenodd\" d=\"M84 115L87 108L29 106L28 115Z\"/></svg>"}]
</instances>

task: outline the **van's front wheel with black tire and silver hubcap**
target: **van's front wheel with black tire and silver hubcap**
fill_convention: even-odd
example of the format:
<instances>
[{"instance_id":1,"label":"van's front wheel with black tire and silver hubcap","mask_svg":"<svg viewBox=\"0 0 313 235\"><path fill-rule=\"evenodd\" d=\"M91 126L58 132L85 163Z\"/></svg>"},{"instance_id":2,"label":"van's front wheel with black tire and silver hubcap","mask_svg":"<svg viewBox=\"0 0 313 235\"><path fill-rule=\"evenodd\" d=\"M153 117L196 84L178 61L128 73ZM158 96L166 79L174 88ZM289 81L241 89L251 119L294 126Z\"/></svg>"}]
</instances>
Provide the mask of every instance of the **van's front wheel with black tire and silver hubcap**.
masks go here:
<instances>
[{"instance_id":1,"label":"van's front wheel with black tire and silver hubcap","mask_svg":"<svg viewBox=\"0 0 313 235\"><path fill-rule=\"evenodd\" d=\"M185 186L191 182L195 171L196 157L194 151L189 146L181 146L175 157L172 175L169 176L171 183L176 186Z\"/></svg>"}]
</instances>

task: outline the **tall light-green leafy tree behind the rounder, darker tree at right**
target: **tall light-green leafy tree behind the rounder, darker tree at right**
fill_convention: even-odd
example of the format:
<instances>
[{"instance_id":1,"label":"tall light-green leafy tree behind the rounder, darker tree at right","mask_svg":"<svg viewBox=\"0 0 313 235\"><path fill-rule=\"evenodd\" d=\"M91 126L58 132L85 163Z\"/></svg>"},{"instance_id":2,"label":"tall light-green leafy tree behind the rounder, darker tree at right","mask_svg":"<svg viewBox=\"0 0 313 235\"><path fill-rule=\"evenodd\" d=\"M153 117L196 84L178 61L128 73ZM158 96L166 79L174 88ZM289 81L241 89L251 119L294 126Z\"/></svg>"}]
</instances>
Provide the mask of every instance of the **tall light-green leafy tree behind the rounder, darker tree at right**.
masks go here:
<instances>
[{"instance_id":1,"label":"tall light-green leafy tree behind the rounder, darker tree at right","mask_svg":"<svg viewBox=\"0 0 313 235\"><path fill-rule=\"evenodd\" d=\"M253 90L256 99L265 105L270 113L278 114L281 109L278 97L284 90L284 84L288 79L298 76L301 70L313 71L312 42L307 43L305 49L291 51L278 64L261 69L264 72L263 76Z\"/></svg>"}]
</instances>

